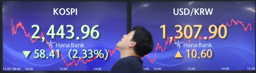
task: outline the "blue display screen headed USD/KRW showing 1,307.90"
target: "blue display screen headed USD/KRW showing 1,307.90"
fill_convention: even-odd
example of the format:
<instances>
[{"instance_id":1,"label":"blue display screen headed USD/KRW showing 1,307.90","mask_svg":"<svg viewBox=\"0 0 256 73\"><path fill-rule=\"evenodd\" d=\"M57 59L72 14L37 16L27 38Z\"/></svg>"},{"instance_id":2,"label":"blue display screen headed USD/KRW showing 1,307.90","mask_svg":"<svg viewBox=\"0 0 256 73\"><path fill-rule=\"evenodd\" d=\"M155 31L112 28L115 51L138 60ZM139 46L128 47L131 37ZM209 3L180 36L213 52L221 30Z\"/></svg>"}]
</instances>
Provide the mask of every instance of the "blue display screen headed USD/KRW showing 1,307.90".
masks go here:
<instances>
[{"instance_id":1,"label":"blue display screen headed USD/KRW showing 1,307.90","mask_svg":"<svg viewBox=\"0 0 256 73\"><path fill-rule=\"evenodd\" d=\"M145 71L255 71L255 1L132 2L154 49Z\"/></svg>"}]
</instances>

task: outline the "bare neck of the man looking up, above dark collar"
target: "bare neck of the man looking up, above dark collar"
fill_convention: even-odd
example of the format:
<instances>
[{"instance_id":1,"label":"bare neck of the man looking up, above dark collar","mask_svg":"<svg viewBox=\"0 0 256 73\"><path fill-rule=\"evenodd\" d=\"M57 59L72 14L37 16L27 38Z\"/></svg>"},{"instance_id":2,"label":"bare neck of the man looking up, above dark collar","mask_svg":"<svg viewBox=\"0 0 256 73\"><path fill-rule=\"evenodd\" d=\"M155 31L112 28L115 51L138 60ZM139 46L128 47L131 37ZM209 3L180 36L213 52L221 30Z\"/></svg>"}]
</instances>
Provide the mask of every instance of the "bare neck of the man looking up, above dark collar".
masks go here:
<instances>
[{"instance_id":1,"label":"bare neck of the man looking up, above dark collar","mask_svg":"<svg viewBox=\"0 0 256 73\"><path fill-rule=\"evenodd\" d=\"M140 57L140 55L137 55L134 51L132 50L119 50L120 51L120 58L128 57L128 56L136 56Z\"/></svg>"}]
</instances>

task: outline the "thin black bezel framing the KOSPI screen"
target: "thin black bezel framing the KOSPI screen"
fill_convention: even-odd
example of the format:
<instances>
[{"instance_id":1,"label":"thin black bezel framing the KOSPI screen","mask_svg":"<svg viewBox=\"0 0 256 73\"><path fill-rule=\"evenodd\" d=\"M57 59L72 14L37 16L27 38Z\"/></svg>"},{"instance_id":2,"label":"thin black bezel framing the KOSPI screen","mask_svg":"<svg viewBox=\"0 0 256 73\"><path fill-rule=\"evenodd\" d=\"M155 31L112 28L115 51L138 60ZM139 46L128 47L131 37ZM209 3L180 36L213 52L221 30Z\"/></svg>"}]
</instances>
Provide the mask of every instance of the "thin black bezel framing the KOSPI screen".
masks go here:
<instances>
[{"instance_id":1,"label":"thin black bezel framing the KOSPI screen","mask_svg":"<svg viewBox=\"0 0 256 73\"><path fill-rule=\"evenodd\" d=\"M126 2L127 6L126 6L126 9L127 9L127 24L126 24L126 33L129 33L129 0L1 0L0 1L0 8L2 10L2 1L48 1L48 2ZM0 58L0 66L1 66L1 70L0 70L0 73L109 73L109 71L3 71L2 68L3 68L3 20L2 20L2 12L1 12L1 20L0 20L0 25L1 25L1 28L0 28L0 41L1 41L1 47L0 47L0 53L1 53L1 58Z\"/></svg>"}]
</instances>

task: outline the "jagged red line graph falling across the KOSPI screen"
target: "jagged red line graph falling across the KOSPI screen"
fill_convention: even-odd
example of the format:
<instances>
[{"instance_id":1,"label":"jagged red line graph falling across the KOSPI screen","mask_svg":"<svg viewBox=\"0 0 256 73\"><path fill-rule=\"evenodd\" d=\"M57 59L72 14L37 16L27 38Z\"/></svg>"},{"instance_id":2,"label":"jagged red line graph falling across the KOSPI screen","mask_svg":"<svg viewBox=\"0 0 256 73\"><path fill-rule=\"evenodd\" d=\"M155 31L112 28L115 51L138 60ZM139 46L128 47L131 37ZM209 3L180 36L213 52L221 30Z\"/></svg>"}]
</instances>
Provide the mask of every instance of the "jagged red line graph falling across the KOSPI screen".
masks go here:
<instances>
[{"instance_id":1,"label":"jagged red line graph falling across the KOSPI screen","mask_svg":"<svg viewBox=\"0 0 256 73\"><path fill-rule=\"evenodd\" d=\"M12 21L12 19L11 19L11 21ZM16 24L16 29L15 29L15 26L12 25L12 36L14 36L14 34L17 33L17 28L18 28L18 27L20 27L20 28L22 28L22 30L24 30L24 34L26 35L26 37L30 37L30 40L31 40L32 43L36 42L37 39L34 39L34 40L33 40L33 39L31 38L31 36L30 36L30 33L28 33L28 34L26 33L24 26L22 26L22 22L19 22L18 24ZM43 34L43 33L41 33L40 39L41 39L41 37L44 37L44 34ZM49 47L49 48L51 49L51 51L52 51L52 48L50 47L48 40L45 39L45 41L47 42L48 47ZM117 47L116 47L113 51L110 51L110 50L108 49L108 53L110 53L110 56L111 56L111 57L112 57L113 53L115 53L116 50L118 50ZM54 51L54 52L55 52L55 54L57 54L56 51ZM59 53L59 55L60 55L60 57L63 59L63 61L64 61L64 63L66 64L67 67L69 67L70 65L73 65L73 63L77 66L78 63L79 63L79 61L82 61L84 64L86 64L87 62L90 62L90 61L93 61L93 59L96 59L96 57L93 56L92 59L86 59L86 61L84 61L82 58L80 58L80 59L78 59L77 62L75 62L75 60L74 60L74 58L73 58L73 59L72 59L72 62L67 63L66 60L63 58L62 54ZM99 55L99 54L98 54L98 55ZM105 57L103 57L103 59L105 59Z\"/></svg>"}]
</instances>

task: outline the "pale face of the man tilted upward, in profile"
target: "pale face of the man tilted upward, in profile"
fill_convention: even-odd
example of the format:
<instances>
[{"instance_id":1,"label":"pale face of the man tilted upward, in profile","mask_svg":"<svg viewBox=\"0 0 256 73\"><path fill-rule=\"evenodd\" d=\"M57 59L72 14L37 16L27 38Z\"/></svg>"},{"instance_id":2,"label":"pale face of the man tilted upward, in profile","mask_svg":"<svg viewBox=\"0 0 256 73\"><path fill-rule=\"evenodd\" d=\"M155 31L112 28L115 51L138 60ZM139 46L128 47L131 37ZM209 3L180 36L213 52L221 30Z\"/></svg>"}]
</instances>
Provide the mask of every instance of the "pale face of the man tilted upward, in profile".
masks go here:
<instances>
[{"instance_id":1,"label":"pale face of the man tilted upward, in profile","mask_svg":"<svg viewBox=\"0 0 256 73\"><path fill-rule=\"evenodd\" d=\"M132 37L134 35L134 31L131 31L130 33L128 34L125 34L123 36L123 38L118 42L116 43L116 46L118 47L118 49L128 49L129 47L134 47L136 42L135 41L132 41Z\"/></svg>"}]
</instances>

